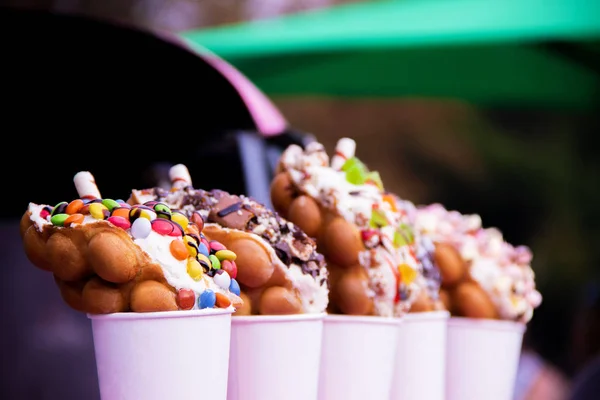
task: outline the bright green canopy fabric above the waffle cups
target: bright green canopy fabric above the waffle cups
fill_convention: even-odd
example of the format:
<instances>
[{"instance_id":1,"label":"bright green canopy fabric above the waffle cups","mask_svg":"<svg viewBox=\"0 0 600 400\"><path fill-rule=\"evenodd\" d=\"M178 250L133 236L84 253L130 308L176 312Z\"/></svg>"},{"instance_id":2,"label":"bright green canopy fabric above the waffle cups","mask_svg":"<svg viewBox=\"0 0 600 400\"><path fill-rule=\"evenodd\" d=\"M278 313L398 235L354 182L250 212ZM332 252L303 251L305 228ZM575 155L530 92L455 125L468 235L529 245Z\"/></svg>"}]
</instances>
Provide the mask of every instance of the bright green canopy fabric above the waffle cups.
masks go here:
<instances>
[{"instance_id":1,"label":"bright green canopy fabric above the waffle cups","mask_svg":"<svg viewBox=\"0 0 600 400\"><path fill-rule=\"evenodd\" d=\"M181 36L275 96L588 107L600 92L597 68L544 46L598 56L596 0L371 1Z\"/></svg>"}]
</instances>

